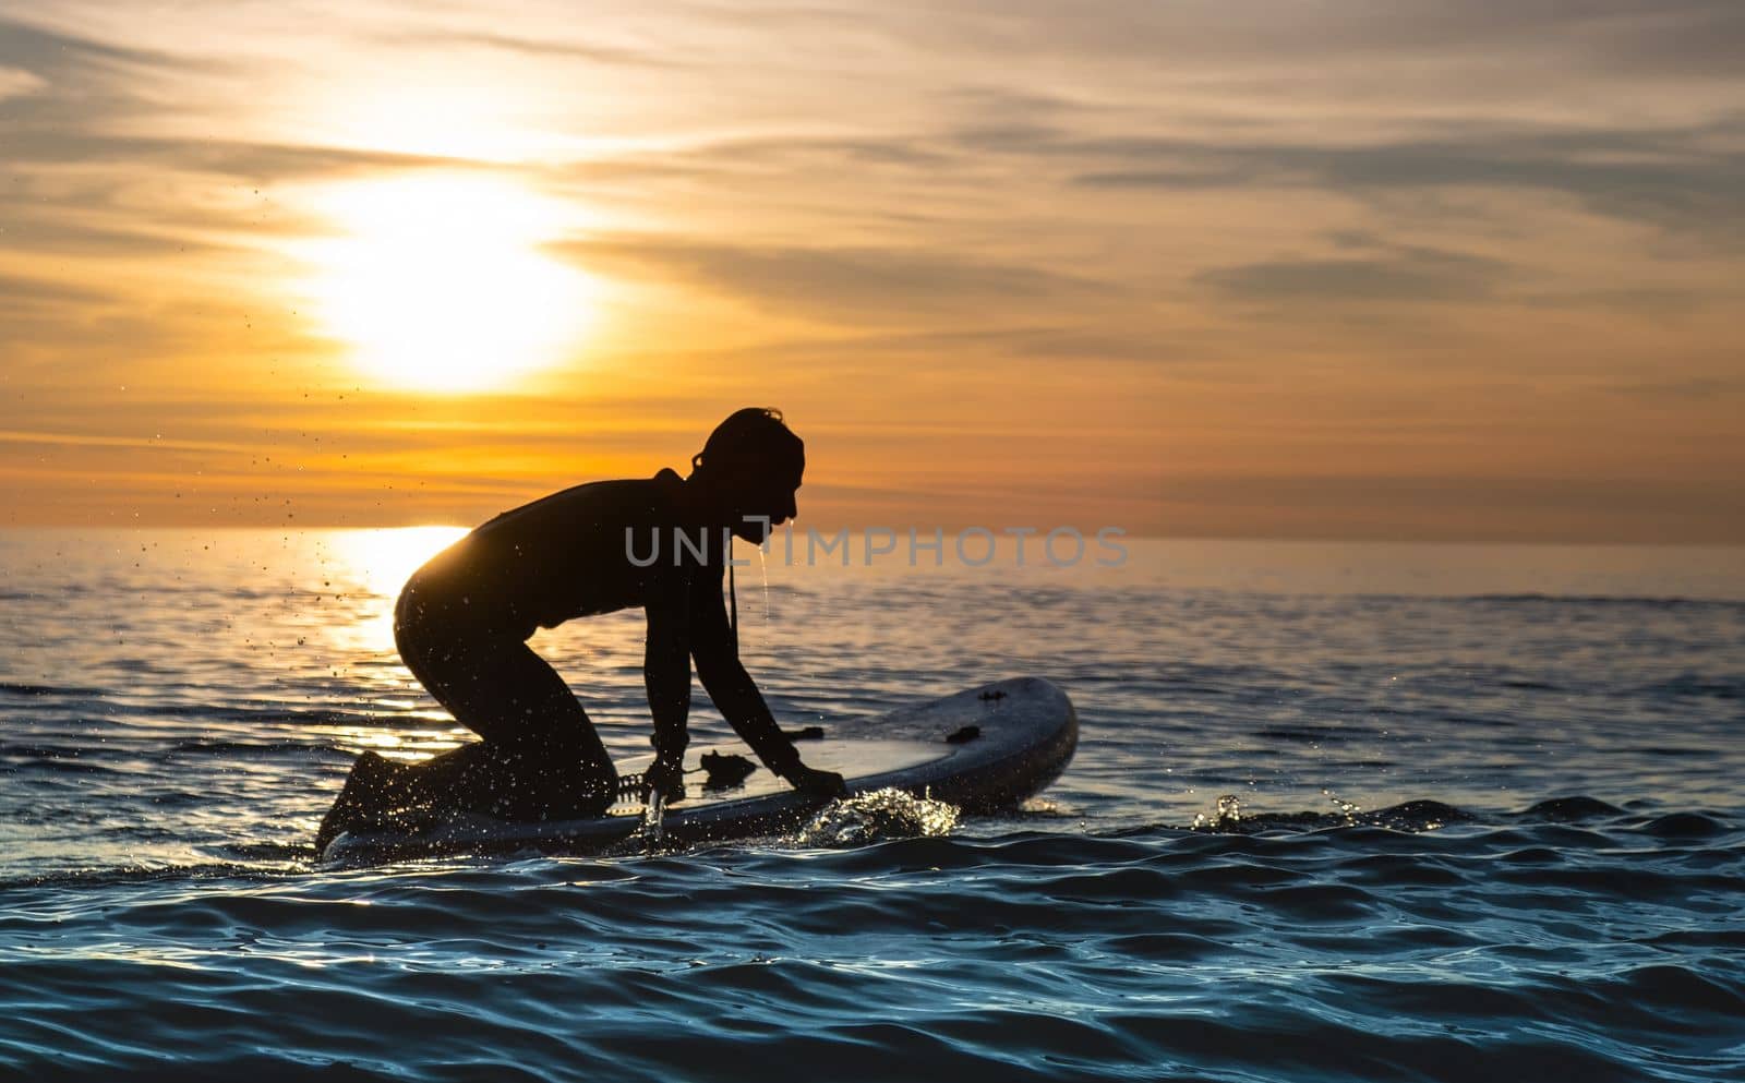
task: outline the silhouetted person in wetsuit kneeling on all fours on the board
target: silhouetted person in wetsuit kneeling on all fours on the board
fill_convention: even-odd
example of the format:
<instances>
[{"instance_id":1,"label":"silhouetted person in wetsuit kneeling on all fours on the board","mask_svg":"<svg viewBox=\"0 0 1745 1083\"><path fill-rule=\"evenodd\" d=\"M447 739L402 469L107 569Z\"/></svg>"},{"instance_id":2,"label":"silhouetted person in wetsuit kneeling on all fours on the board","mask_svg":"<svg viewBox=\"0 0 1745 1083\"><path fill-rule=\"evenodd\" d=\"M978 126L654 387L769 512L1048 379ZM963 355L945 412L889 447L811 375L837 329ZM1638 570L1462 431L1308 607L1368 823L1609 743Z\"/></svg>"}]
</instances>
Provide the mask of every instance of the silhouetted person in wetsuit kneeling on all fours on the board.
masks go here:
<instances>
[{"instance_id":1,"label":"silhouetted person in wetsuit kneeling on all fours on the board","mask_svg":"<svg viewBox=\"0 0 1745 1083\"><path fill-rule=\"evenodd\" d=\"M804 445L782 415L747 408L708 436L688 478L663 469L649 480L578 485L506 511L438 553L400 595L394 642L431 696L483 739L422 764L365 752L316 848L415 804L506 820L604 814L618 788L612 760L527 638L632 605L647 614L642 675L654 717L644 797L684 795L693 659L708 698L771 771L799 790L843 794L839 774L806 767L782 734L740 664L721 600L728 532L761 544L770 527L794 516L804 467Z\"/></svg>"}]
</instances>

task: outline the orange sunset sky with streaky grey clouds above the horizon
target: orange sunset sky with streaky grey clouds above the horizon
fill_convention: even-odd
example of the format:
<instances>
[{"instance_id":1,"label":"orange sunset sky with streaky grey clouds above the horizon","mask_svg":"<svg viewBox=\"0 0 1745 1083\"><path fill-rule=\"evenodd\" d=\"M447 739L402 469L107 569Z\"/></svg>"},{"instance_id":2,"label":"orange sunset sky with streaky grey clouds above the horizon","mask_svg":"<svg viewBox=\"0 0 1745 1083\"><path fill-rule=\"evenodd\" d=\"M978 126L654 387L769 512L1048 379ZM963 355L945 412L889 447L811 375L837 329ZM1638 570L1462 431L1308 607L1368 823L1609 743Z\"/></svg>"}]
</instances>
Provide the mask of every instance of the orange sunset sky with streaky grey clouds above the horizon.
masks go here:
<instances>
[{"instance_id":1,"label":"orange sunset sky with streaky grey clouds above the horizon","mask_svg":"<svg viewBox=\"0 0 1745 1083\"><path fill-rule=\"evenodd\" d=\"M1736 0L0 0L0 527L1745 542Z\"/></svg>"}]
</instances>

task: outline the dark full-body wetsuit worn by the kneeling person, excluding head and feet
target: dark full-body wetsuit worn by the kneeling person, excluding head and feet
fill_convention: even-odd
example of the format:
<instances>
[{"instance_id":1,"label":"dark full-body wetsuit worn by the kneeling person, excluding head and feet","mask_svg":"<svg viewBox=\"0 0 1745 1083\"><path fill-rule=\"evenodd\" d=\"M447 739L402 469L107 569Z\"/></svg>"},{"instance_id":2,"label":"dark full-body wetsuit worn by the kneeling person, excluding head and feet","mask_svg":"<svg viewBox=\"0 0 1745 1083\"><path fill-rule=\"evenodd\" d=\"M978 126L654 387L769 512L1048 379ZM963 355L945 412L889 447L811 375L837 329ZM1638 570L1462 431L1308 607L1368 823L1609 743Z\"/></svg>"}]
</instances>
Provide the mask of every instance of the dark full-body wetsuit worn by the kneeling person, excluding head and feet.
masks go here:
<instances>
[{"instance_id":1,"label":"dark full-body wetsuit worn by the kneeling person, excluding head and feet","mask_svg":"<svg viewBox=\"0 0 1745 1083\"><path fill-rule=\"evenodd\" d=\"M675 542L675 527L693 546ZM663 469L649 480L578 485L506 511L419 569L394 609L400 656L483 738L455 774L455 797L511 818L604 811L616 788L611 757L588 713L527 640L537 628L633 605L647 612L654 750L674 760L684 753L695 657L728 722L787 776L799 757L733 649L721 600L726 546L721 528L705 537L688 521L684 480ZM658 556L649 560L651 553Z\"/></svg>"}]
</instances>

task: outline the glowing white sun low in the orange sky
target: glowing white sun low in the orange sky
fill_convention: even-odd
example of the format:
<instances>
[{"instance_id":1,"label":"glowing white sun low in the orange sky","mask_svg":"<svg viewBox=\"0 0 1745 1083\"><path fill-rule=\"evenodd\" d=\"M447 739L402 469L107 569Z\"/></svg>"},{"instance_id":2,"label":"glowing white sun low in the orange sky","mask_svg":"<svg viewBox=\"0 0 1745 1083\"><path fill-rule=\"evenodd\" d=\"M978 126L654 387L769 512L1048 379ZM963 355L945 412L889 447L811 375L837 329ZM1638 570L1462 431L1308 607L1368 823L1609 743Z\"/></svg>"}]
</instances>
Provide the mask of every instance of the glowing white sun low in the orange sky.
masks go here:
<instances>
[{"instance_id":1,"label":"glowing white sun low in the orange sky","mask_svg":"<svg viewBox=\"0 0 1745 1083\"><path fill-rule=\"evenodd\" d=\"M339 235L309 251L316 317L382 385L501 387L562 361L593 321L595 283L539 249L562 209L513 183L359 181L318 209Z\"/></svg>"}]
</instances>

